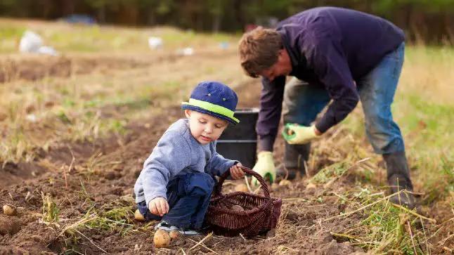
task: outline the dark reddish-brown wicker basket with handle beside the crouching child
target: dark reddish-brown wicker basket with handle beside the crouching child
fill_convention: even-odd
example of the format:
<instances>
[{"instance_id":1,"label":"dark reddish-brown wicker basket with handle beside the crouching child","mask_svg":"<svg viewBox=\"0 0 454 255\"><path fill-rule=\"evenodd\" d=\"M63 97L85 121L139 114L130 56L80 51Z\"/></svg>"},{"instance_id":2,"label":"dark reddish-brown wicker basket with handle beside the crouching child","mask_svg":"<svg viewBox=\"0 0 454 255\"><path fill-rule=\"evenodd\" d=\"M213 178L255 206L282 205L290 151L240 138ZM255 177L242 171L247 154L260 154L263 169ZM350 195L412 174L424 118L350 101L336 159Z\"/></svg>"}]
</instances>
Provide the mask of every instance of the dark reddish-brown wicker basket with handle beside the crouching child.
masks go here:
<instances>
[{"instance_id":1,"label":"dark reddish-brown wicker basket with handle beside the crouching child","mask_svg":"<svg viewBox=\"0 0 454 255\"><path fill-rule=\"evenodd\" d=\"M246 174L257 178L264 190L264 195L248 192L231 192L222 194L222 184L229 176L226 171L214 188L205 223L216 235L252 237L261 235L276 227L280 216L282 200L270 197L268 185L259 174L247 167L242 167ZM244 211L231 209L233 205L240 205Z\"/></svg>"}]
</instances>

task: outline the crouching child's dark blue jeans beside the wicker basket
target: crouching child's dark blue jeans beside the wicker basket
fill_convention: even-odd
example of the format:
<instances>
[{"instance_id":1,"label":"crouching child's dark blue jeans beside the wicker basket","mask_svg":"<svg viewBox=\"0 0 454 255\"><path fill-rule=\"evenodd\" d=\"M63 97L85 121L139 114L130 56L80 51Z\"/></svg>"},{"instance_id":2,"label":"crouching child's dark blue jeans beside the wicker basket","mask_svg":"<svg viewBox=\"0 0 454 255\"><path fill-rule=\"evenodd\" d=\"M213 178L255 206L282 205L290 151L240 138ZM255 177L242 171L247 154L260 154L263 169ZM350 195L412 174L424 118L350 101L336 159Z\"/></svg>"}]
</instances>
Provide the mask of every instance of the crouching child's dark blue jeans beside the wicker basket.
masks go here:
<instances>
[{"instance_id":1,"label":"crouching child's dark blue jeans beside the wicker basket","mask_svg":"<svg viewBox=\"0 0 454 255\"><path fill-rule=\"evenodd\" d=\"M214 178L206 173L190 173L178 176L167 184L169 213L156 216L145 201L137 204L145 220L162 220L178 228L202 228L209 199L214 188Z\"/></svg>"}]
</instances>

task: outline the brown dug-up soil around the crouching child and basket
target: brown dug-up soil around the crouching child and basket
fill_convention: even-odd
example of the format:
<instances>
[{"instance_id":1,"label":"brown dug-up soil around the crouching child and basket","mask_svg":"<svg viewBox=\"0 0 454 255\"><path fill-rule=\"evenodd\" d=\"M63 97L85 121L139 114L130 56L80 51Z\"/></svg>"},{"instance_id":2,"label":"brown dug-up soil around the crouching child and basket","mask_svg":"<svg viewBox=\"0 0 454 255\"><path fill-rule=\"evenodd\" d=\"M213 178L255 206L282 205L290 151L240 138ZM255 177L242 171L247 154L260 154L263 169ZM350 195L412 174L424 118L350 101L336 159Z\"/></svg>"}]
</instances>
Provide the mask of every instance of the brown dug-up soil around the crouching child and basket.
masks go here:
<instances>
[{"instance_id":1,"label":"brown dug-up soil around the crouching child and basket","mask_svg":"<svg viewBox=\"0 0 454 255\"><path fill-rule=\"evenodd\" d=\"M70 66L61 60L55 65ZM27 65L34 66L32 63ZM119 68L137 63L123 63ZM111 67L111 66L108 66ZM60 69L60 68L58 68ZM28 70L28 69L27 69ZM70 67L67 68L70 70ZM66 75L67 71L56 75ZM83 72L89 72L89 69ZM81 71L82 72L82 71ZM46 74L18 72L23 79L38 79ZM8 78L1 76L0 80ZM258 105L258 81L242 84L238 89L239 107ZM8 163L0 169L0 204L13 204L18 214L0 214L0 254L361 254L363 249L345 240L335 239L331 233L342 233L365 218L358 213L348 218L337 216L345 210L332 190L342 193L354 185L355 177L345 175L330 188L306 188L307 178L291 185L278 186L273 197L283 198L283 211L275 235L251 239L242 237L181 238L168 248L153 246L153 228L148 223L134 220L133 186L141 166L160 135L177 118L182 117L178 105L166 115L150 116L143 122L129 124L127 136L121 142L117 136L95 140L93 143L62 143L48 152L41 152L31 163ZM151 125L144 125L150 123ZM283 140L278 138L275 156L283 154ZM329 162L320 159L320 162ZM319 167L321 168L320 165ZM233 185L226 185L226 190ZM56 223L43 221L43 203L50 196L60 209ZM323 202L317 200L323 197ZM46 207L46 206L45 206ZM96 217L112 208L129 207L124 224L117 228L77 228L69 231L84 218ZM433 208L438 221L448 218ZM120 229L120 230L119 230ZM68 231L65 231L68 230ZM129 230L129 231L126 231Z\"/></svg>"}]
</instances>

